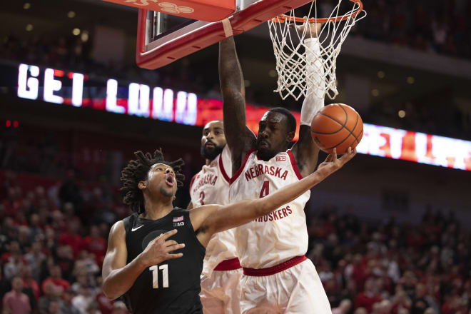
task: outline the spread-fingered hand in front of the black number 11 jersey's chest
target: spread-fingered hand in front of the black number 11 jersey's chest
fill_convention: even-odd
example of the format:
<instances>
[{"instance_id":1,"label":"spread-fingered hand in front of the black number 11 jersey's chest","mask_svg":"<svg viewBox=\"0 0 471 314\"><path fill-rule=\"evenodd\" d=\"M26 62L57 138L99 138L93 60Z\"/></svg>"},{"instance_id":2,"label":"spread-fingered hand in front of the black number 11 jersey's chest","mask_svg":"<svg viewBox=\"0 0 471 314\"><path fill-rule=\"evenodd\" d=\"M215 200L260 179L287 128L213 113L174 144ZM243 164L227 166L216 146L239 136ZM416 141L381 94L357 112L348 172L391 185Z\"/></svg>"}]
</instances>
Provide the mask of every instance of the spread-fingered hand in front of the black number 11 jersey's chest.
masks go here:
<instances>
[{"instance_id":1,"label":"spread-fingered hand in front of the black number 11 jersey's chest","mask_svg":"<svg viewBox=\"0 0 471 314\"><path fill-rule=\"evenodd\" d=\"M151 240L141 253L143 263L148 266L157 265L164 260L171 258L181 258L183 253L171 253L185 247L184 243L177 243L175 240L168 240L177 233L176 229L161 234L157 238Z\"/></svg>"}]
</instances>

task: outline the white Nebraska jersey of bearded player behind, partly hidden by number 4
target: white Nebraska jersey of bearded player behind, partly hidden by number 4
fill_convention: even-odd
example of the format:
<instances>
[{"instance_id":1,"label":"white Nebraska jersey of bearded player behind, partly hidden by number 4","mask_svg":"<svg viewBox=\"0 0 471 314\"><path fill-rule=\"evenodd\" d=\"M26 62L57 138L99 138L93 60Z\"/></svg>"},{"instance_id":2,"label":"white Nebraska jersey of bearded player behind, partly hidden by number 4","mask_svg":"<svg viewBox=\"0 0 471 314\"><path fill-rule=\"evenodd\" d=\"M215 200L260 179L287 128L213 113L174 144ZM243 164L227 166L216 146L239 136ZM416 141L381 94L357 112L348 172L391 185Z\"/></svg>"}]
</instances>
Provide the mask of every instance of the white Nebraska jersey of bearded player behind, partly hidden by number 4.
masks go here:
<instances>
[{"instance_id":1,"label":"white Nebraska jersey of bearded player behind, partly hidden by number 4","mask_svg":"<svg viewBox=\"0 0 471 314\"><path fill-rule=\"evenodd\" d=\"M226 145L223 151L209 165L203 166L191 180L190 196L193 207L229 203L229 183L231 182L231 151ZM234 231L215 233L206 247L203 275L211 277L213 269L223 260L236 257Z\"/></svg>"}]
</instances>

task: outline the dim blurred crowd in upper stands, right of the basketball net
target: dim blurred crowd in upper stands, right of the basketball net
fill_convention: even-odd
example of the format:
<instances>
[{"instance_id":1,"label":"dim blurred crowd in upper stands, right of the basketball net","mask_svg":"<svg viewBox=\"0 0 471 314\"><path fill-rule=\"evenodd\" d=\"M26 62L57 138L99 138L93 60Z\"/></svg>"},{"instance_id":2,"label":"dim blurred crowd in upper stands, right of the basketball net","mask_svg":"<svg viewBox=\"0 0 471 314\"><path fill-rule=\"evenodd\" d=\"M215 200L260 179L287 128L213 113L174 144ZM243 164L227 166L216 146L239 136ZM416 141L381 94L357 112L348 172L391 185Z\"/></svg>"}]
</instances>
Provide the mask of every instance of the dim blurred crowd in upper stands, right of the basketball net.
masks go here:
<instances>
[{"instance_id":1,"label":"dim blurred crowd in upper stands, right of the basketball net","mask_svg":"<svg viewBox=\"0 0 471 314\"><path fill-rule=\"evenodd\" d=\"M471 58L471 4L467 0L364 1L368 18L358 34L420 51Z\"/></svg>"}]
</instances>

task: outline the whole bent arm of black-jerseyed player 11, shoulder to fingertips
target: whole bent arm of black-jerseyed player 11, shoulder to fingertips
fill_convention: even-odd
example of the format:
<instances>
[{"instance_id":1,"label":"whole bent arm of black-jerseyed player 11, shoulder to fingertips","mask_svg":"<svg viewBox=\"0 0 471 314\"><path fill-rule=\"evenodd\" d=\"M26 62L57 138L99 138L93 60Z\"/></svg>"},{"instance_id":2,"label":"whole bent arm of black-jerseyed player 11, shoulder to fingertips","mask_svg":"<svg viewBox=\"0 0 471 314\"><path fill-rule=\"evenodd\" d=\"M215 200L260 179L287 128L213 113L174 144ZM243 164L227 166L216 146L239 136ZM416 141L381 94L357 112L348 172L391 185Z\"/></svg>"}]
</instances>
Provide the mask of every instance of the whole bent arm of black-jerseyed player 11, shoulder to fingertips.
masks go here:
<instances>
[{"instance_id":1,"label":"whole bent arm of black-jerseyed player 11, shoulder to fingertips","mask_svg":"<svg viewBox=\"0 0 471 314\"><path fill-rule=\"evenodd\" d=\"M173 250L183 248L174 240L167 240L177 233L168 231L151 240L143 252L126 265L128 250L126 249L126 231L123 221L118 221L111 227L108 238L108 249L103 260L103 293L106 298L114 300L126 293L132 287L136 278L151 265L162 263L163 260L181 258L182 253L171 254Z\"/></svg>"}]
</instances>

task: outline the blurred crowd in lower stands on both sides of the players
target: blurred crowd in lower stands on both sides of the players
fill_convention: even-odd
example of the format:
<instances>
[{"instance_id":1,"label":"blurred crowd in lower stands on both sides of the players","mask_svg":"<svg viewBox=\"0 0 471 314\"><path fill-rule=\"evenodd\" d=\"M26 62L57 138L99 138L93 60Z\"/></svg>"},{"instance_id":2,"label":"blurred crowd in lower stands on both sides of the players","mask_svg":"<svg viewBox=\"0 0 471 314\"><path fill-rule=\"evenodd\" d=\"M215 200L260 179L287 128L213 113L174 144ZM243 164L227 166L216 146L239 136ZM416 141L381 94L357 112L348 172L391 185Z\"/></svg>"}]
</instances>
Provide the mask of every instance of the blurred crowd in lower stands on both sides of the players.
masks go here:
<instances>
[{"instance_id":1,"label":"blurred crowd in lower stands on both sides of the players","mask_svg":"<svg viewBox=\"0 0 471 314\"><path fill-rule=\"evenodd\" d=\"M127 313L100 289L109 228L129 214L117 190L73 176L24 188L3 175L1 313ZM471 313L471 237L451 214L429 208L410 226L328 208L310 213L308 233L334 314Z\"/></svg>"}]
</instances>

